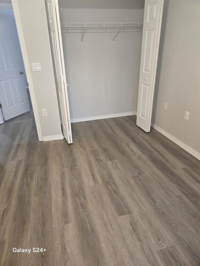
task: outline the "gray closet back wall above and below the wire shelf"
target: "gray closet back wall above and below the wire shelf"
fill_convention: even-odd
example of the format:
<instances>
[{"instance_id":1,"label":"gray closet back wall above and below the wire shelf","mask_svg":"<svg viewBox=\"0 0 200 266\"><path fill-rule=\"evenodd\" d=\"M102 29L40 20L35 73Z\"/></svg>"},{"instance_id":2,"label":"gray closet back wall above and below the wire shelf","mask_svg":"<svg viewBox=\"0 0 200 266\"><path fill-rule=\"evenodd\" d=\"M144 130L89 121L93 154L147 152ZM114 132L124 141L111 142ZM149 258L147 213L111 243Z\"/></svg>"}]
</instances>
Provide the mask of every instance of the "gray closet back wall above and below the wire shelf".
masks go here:
<instances>
[{"instance_id":1,"label":"gray closet back wall above and below the wire shelf","mask_svg":"<svg viewBox=\"0 0 200 266\"><path fill-rule=\"evenodd\" d=\"M143 6L59 11L60 22L143 22ZM142 32L120 32L112 44L113 34L86 32L81 44L81 33L62 33L72 122L137 110Z\"/></svg>"}]
</instances>

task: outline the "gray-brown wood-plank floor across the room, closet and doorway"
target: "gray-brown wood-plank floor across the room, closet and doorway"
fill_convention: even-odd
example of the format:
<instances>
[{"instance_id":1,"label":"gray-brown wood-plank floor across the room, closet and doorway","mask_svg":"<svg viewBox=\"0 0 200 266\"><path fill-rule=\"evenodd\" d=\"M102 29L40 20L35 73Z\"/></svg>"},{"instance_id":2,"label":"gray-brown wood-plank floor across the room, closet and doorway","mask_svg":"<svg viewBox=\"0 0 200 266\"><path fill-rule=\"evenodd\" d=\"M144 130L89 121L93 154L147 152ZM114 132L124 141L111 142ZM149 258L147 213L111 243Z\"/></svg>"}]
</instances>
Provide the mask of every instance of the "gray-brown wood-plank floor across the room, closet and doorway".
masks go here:
<instances>
[{"instance_id":1,"label":"gray-brown wood-plank floor across the room, closet and doorway","mask_svg":"<svg viewBox=\"0 0 200 266\"><path fill-rule=\"evenodd\" d=\"M0 125L1 265L199 265L200 162L135 116L72 130L39 143L32 112Z\"/></svg>"}]
</instances>

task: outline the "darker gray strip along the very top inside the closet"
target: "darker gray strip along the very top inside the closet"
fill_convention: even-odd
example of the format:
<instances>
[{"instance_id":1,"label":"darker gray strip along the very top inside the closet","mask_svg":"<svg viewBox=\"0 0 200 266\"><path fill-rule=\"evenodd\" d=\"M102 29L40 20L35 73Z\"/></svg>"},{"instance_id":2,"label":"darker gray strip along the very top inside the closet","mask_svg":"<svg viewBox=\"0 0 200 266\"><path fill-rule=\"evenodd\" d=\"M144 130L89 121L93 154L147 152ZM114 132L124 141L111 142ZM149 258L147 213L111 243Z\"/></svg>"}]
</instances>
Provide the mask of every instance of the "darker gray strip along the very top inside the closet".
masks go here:
<instances>
[{"instance_id":1,"label":"darker gray strip along the very top inside the closet","mask_svg":"<svg viewBox=\"0 0 200 266\"><path fill-rule=\"evenodd\" d=\"M58 0L63 8L143 8L144 0Z\"/></svg>"}]
</instances>

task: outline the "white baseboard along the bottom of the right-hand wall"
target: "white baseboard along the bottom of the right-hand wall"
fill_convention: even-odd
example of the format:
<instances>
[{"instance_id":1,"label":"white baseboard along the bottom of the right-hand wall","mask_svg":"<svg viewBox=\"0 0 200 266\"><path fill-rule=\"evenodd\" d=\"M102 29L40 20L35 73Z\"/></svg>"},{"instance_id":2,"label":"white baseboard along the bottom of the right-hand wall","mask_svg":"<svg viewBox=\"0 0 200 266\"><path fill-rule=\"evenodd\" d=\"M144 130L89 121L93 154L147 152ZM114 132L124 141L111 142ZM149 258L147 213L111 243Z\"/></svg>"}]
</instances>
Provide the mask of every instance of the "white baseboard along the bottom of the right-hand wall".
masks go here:
<instances>
[{"instance_id":1,"label":"white baseboard along the bottom of the right-hand wall","mask_svg":"<svg viewBox=\"0 0 200 266\"><path fill-rule=\"evenodd\" d=\"M180 141L178 138L175 138L173 135L165 131L164 129L158 127L157 125L151 123L151 126L156 129L158 132L163 134L165 137L176 143L179 147L183 148L186 152L190 153L192 156L200 160L200 153L192 149L191 147L187 146L185 143Z\"/></svg>"}]
</instances>

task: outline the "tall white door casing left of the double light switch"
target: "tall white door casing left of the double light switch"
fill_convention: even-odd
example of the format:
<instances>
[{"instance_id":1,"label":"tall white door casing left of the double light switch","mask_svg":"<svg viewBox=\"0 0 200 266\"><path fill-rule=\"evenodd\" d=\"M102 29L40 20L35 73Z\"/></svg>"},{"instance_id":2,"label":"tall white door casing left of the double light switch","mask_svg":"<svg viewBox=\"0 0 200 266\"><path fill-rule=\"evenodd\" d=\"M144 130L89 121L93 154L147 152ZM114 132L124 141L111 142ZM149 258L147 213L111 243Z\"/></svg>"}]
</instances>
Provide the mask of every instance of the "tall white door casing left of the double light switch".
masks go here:
<instances>
[{"instance_id":1,"label":"tall white door casing left of the double light switch","mask_svg":"<svg viewBox=\"0 0 200 266\"><path fill-rule=\"evenodd\" d=\"M32 82L31 70L30 70L29 63L28 63L26 45L25 45L25 40L24 40L24 36L23 36L23 31L22 31L22 22L20 19L20 13L19 13L18 4L17 4L16 0L12 0L12 8L13 8L14 16L15 16L17 33L18 33L19 43L20 43L20 47L21 47L21 51L22 51L22 58L24 61L24 67L25 67L28 85L29 85L29 92L30 92L30 97L31 97L32 109L33 109L35 124L36 124L36 128L37 128L37 136L38 136L39 141L43 141L42 130L41 130L39 114L38 114L38 109L37 109L37 102L36 102L34 87L33 87L33 82Z\"/></svg>"}]
</instances>

